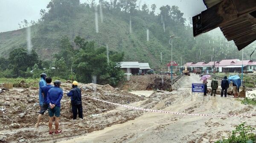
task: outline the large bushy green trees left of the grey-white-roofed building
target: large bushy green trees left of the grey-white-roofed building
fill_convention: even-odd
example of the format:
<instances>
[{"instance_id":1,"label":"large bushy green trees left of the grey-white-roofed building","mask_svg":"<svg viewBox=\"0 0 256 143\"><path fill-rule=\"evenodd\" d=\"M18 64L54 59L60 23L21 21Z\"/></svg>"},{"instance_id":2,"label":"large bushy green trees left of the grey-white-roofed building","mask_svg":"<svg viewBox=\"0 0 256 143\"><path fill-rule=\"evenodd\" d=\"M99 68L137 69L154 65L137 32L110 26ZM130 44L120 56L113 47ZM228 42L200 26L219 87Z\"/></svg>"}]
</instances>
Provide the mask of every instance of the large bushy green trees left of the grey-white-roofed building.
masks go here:
<instances>
[{"instance_id":1,"label":"large bushy green trees left of the grey-white-roofed building","mask_svg":"<svg viewBox=\"0 0 256 143\"><path fill-rule=\"evenodd\" d=\"M80 50L75 56L74 69L79 81L90 83L92 77L96 76L98 83L108 82L107 79L100 78L108 74L107 51L105 47L97 47L95 42L85 42L84 38L76 36L74 40ZM123 53L110 51L112 62L121 62ZM121 70L120 68L118 70ZM117 78L119 79L119 78ZM119 81L116 81L119 82Z\"/></svg>"}]
</instances>

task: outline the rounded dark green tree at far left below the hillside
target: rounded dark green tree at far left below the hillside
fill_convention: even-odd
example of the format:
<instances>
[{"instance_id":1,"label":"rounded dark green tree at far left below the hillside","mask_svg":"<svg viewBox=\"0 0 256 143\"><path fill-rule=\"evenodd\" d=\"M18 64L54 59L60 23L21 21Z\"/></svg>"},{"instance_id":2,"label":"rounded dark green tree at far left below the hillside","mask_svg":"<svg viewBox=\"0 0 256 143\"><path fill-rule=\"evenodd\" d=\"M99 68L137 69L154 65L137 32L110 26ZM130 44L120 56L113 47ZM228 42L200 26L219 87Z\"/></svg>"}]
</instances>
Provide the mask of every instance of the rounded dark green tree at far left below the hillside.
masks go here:
<instances>
[{"instance_id":1,"label":"rounded dark green tree at far left below the hillside","mask_svg":"<svg viewBox=\"0 0 256 143\"><path fill-rule=\"evenodd\" d=\"M14 76L23 76L21 73L26 72L27 68L32 68L38 63L38 54L35 50L27 53L25 48L17 48L10 52L9 64L14 72Z\"/></svg>"}]
</instances>

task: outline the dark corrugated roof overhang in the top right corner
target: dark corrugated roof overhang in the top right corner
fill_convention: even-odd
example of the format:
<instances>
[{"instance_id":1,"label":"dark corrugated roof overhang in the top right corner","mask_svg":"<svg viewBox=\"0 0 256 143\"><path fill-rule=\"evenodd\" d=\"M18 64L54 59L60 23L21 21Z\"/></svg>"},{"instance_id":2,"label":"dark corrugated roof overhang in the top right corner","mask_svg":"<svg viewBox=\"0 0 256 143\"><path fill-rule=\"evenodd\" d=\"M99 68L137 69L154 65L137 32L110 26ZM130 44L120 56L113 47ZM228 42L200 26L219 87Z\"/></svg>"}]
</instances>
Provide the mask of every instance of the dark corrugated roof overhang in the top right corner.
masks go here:
<instances>
[{"instance_id":1,"label":"dark corrugated roof overhang in the top right corner","mask_svg":"<svg viewBox=\"0 0 256 143\"><path fill-rule=\"evenodd\" d=\"M238 50L256 40L256 0L204 0L207 10L192 17L193 34L221 28Z\"/></svg>"}]
</instances>

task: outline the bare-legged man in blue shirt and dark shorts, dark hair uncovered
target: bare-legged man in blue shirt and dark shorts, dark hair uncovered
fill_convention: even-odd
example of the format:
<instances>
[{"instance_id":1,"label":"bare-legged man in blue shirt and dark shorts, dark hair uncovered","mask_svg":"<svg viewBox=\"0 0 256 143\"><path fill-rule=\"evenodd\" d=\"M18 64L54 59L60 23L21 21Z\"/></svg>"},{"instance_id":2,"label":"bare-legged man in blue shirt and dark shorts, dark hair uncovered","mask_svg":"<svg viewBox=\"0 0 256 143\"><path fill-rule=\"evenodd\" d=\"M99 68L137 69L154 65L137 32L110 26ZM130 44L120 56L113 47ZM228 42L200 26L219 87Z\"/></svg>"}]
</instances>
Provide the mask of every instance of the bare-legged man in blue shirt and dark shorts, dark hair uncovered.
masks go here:
<instances>
[{"instance_id":1,"label":"bare-legged man in blue shirt and dark shorts, dark hair uncovered","mask_svg":"<svg viewBox=\"0 0 256 143\"><path fill-rule=\"evenodd\" d=\"M44 115L44 112L48 109L48 104L47 104L47 93L49 91L49 89L51 89L53 86L51 85L51 82L52 82L52 79L50 77L47 77L45 79L47 85L41 87L41 94L44 98L44 103L42 104L41 106L41 109L40 109L40 112L39 112L39 115L38 115L38 121L37 123L35 124L35 127L38 128L39 126L39 123L41 121L41 118L42 118L42 115Z\"/></svg>"}]
</instances>

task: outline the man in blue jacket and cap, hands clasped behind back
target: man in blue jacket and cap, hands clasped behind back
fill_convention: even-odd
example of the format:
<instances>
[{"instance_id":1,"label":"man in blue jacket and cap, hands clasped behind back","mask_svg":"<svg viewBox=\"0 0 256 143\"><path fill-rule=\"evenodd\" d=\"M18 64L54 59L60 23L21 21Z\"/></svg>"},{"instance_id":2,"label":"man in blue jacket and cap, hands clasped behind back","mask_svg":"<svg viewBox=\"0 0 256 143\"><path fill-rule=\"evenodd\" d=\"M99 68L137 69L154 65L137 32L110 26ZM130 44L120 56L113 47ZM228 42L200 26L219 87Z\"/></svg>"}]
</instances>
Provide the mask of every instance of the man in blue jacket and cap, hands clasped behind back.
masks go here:
<instances>
[{"instance_id":1,"label":"man in blue jacket and cap, hands clasped behind back","mask_svg":"<svg viewBox=\"0 0 256 143\"><path fill-rule=\"evenodd\" d=\"M61 115L61 98L63 96L63 91L60 88L61 81L56 80L53 82L54 87L52 87L47 93L47 103L49 104L49 134L52 134L52 119L55 115L55 134L61 133L58 130L59 117Z\"/></svg>"}]
</instances>

